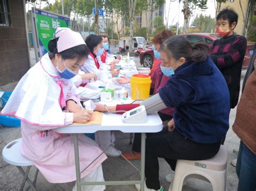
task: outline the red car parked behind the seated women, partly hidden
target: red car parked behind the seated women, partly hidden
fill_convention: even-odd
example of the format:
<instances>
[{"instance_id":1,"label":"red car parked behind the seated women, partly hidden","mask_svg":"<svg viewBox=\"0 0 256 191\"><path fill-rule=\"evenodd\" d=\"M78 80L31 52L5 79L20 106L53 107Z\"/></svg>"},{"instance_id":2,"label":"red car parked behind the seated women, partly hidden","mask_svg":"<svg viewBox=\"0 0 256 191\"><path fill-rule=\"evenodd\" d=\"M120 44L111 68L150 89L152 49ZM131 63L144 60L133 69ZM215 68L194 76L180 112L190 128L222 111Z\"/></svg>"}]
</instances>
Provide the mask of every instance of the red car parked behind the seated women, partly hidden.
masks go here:
<instances>
[{"instance_id":1,"label":"red car parked behind the seated women, partly hidden","mask_svg":"<svg viewBox=\"0 0 256 191\"><path fill-rule=\"evenodd\" d=\"M214 40L220 38L217 34L211 33L189 33L189 34L179 34L180 36L186 37L190 43L206 43L210 45ZM242 63L242 69L246 69L248 67L248 63L250 62L251 56L253 53L253 45L247 45L244 62ZM147 68L152 68L152 63L154 60L154 52L152 47L147 47L140 52L140 64Z\"/></svg>"}]
</instances>

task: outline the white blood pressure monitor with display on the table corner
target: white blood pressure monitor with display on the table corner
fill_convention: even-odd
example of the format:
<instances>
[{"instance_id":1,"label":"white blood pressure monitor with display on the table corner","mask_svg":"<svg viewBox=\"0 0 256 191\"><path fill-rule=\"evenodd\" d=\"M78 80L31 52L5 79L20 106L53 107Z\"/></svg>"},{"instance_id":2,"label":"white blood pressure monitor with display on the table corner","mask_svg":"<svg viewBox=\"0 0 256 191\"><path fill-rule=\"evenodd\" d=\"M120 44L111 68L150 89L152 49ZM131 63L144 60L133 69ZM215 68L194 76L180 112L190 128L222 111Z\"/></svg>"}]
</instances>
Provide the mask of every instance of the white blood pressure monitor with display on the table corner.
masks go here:
<instances>
[{"instance_id":1,"label":"white blood pressure monitor with display on the table corner","mask_svg":"<svg viewBox=\"0 0 256 191\"><path fill-rule=\"evenodd\" d=\"M145 123L147 121L147 112L144 105L140 105L122 115L124 123Z\"/></svg>"}]
</instances>

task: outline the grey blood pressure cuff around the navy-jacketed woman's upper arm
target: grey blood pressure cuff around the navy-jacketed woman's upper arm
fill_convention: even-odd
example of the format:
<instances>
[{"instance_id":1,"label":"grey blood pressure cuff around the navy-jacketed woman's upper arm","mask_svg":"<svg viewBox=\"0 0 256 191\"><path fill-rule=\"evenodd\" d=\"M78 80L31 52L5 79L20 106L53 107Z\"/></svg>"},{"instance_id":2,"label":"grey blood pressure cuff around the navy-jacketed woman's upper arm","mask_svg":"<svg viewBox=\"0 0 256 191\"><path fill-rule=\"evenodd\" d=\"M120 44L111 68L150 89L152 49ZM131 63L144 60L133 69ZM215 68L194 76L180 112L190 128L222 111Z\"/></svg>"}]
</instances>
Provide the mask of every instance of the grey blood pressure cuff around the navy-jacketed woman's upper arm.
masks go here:
<instances>
[{"instance_id":1,"label":"grey blood pressure cuff around the navy-jacketed woman's upper arm","mask_svg":"<svg viewBox=\"0 0 256 191\"><path fill-rule=\"evenodd\" d=\"M156 111L167 108L159 94L155 94L150 98L144 100L140 103L140 105L145 106L147 114L153 114Z\"/></svg>"}]
</instances>

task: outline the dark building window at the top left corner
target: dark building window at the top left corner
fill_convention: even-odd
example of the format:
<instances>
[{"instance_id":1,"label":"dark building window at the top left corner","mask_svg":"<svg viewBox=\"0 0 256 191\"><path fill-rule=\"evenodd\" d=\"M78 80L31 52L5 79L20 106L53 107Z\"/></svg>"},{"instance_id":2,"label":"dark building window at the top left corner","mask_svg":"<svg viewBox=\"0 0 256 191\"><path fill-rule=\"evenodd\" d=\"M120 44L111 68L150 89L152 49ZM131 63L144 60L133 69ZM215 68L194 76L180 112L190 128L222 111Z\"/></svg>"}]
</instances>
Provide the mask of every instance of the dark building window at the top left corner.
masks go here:
<instances>
[{"instance_id":1,"label":"dark building window at the top left corner","mask_svg":"<svg viewBox=\"0 0 256 191\"><path fill-rule=\"evenodd\" d=\"M0 0L0 26L11 25L11 13L8 0Z\"/></svg>"}]
</instances>

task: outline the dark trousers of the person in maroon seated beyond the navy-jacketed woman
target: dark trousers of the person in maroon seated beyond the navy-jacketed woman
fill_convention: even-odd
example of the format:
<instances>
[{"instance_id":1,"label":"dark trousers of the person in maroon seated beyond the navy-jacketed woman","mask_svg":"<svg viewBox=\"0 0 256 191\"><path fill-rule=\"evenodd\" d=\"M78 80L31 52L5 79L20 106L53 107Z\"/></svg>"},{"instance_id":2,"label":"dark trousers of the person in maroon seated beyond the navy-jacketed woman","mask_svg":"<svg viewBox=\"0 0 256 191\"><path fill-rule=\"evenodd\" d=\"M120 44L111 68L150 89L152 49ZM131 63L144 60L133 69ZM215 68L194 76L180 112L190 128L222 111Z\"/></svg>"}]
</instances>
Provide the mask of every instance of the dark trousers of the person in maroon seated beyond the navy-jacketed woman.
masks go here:
<instances>
[{"instance_id":1,"label":"dark trousers of the person in maroon seated beyond the navy-jacketed woman","mask_svg":"<svg viewBox=\"0 0 256 191\"><path fill-rule=\"evenodd\" d=\"M161 121L169 121L172 119L172 116L170 115L165 115L161 112L158 112L159 117L161 118ZM166 132L166 131L165 131ZM151 136L155 136L155 135L159 135L162 132L157 132L157 133L146 133L147 137L151 137ZM142 143L142 133L134 133L134 138L133 138L133 144L132 144L132 151L135 152L140 152L140 147L141 147L141 143Z\"/></svg>"}]
</instances>

